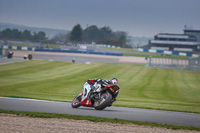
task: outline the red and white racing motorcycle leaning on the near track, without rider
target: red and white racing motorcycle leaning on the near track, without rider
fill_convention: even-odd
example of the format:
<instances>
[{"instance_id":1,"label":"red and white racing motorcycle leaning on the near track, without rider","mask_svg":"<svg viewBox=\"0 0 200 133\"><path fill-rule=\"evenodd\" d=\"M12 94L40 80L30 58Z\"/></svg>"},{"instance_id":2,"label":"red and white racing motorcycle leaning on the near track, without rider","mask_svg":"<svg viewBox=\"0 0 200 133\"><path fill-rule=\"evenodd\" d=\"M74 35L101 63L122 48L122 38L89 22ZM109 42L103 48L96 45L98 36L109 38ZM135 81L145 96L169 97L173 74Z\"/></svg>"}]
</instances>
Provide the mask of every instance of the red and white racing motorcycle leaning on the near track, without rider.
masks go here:
<instances>
[{"instance_id":1,"label":"red and white racing motorcycle leaning on the near track, without rider","mask_svg":"<svg viewBox=\"0 0 200 133\"><path fill-rule=\"evenodd\" d=\"M108 84L101 88L100 92L92 91L92 86L87 82L84 84L82 92L77 95L72 101L72 107L80 106L94 107L96 110L103 110L116 100L116 95L119 93L119 85Z\"/></svg>"}]
</instances>

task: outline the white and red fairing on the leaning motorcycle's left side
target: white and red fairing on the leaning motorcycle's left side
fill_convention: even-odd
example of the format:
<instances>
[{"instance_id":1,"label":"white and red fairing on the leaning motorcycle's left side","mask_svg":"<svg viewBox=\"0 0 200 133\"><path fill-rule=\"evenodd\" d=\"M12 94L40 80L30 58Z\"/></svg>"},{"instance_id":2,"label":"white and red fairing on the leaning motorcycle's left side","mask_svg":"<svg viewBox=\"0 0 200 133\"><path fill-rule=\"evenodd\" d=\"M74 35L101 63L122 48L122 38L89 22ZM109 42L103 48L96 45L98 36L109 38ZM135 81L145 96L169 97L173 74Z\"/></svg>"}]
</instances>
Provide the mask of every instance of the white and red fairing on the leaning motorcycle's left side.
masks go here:
<instances>
[{"instance_id":1,"label":"white and red fairing on the leaning motorcycle's left side","mask_svg":"<svg viewBox=\"0 0 200 133\"><path fill-rule=\"evenodd\" d=\"M81 94L81 102L80 102L80 104L81 104L82 106L93 107L91 99L88 99L88 97L89 97L89 95L90 95L90 91L91 91L91 87L90 87L90 85L86 82L86 83L84 84L84 87L83 87L83 90L82 90L82 94Z\"/></svg>"}]
</instances>

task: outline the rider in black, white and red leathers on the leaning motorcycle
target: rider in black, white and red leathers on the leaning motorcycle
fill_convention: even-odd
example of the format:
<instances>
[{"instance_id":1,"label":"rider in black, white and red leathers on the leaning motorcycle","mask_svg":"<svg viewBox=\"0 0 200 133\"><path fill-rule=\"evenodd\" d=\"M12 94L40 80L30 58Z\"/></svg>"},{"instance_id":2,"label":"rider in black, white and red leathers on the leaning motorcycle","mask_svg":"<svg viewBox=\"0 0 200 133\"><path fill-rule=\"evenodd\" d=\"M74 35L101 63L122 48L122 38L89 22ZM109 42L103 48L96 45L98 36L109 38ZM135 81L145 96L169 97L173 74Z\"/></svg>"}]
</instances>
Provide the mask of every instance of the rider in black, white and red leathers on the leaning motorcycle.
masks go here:
<instances>
[{"instance_id":1,"label":"rider in black, white and red leathers on the leaning motorcycle","mask_svg":"<svg viewBox=\"0 0 200 133\"><path fill-rule=\"evenodd\" d=\"M88 79L87 83L91 85L91 89L92 89L93 93L100 92L101 89L105 88L109 84L115 84L115 85L119 86L118 80L116 78L111 78L110 80L103 80L101 78L98 78L98 79ZM118 94L119 94L119 90L116 91L113 94L112 102L111 102L111 104L109 106L111 106L112 103L116 101L116 97L117 97Z\"/></svg>"}]
</instances>

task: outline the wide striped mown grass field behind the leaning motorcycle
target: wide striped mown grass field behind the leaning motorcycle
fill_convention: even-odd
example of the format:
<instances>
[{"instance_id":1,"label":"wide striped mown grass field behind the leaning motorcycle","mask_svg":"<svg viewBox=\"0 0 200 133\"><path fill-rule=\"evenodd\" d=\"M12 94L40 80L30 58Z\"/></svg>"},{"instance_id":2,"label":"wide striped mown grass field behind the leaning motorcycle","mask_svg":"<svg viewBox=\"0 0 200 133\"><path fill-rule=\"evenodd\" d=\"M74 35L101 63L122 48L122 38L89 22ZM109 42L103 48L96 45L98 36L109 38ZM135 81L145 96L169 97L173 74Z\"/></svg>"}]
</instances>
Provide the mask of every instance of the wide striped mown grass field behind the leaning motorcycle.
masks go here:
<instances>
[{"instance_id":1,"label":"wide striped mown grass field behind the leaning motorcycle","mask_svg":"<svg viewBox=\"0 0 200 133\"><path fill-rule=\"evenodd\" d=\"M72 101L89 78L119 80L115 106L200 113L200 72L29 60L0 65L0 96Z\"/></svg>"}]
</instances>

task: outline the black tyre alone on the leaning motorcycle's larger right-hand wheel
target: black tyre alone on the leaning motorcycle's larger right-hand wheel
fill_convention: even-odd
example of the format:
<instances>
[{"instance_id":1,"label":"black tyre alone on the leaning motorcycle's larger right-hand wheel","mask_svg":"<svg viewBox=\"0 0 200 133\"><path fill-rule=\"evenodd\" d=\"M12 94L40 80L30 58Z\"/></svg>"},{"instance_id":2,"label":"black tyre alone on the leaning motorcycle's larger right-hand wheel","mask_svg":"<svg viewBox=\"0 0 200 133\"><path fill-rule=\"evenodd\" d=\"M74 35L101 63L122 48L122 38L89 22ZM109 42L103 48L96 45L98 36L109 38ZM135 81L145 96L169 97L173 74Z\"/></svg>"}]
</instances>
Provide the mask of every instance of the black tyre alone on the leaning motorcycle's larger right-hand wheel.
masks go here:
<instances>
[{"instance_id":1,"label":"black tyre alone on the leaning motorcycle's larger right-hand wheel","mask_svg":"<svg viewBox=\"0 0 200 133\"><path fill-rule=\"evenodd\" d=\"M96 102L94 102L94 108L96 110L103 110L110 104L110 102L112 100L112 95L110 93L108 93L108 92L107 93L103 93L102 95L104 95L104 94L107 94L107 97L106 97L105 101L102 104L96 106Z\"/></svg>"}]
</instances>

